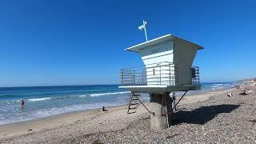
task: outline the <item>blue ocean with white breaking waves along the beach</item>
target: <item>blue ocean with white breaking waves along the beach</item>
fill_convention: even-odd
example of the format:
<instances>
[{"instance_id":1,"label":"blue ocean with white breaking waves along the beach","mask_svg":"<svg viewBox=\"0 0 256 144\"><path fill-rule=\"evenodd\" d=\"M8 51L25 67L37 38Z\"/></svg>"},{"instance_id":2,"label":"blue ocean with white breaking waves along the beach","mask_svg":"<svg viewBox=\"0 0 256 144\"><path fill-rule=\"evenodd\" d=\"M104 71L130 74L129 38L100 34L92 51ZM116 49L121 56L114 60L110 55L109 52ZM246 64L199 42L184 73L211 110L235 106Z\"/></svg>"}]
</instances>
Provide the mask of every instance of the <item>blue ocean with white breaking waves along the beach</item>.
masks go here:
<instances>
[{"instance_id":1,"label":"blue ocean with white breaking waves along the beach","mask_svg":"<svg viewBox=\"0 0 256 144\"><path fill-rule=\"evenodd\" d=\"M202 90L190 91L188 95L228 89L231 85L234 82L202 83ZM118 85L0 87L0 125L77 110L124 105L127 92L118 89ZM22 99L25 101L23 109L20 105ZM142 94L142 99L149 101L148 94Z\"/></svg>"}]
</instances>

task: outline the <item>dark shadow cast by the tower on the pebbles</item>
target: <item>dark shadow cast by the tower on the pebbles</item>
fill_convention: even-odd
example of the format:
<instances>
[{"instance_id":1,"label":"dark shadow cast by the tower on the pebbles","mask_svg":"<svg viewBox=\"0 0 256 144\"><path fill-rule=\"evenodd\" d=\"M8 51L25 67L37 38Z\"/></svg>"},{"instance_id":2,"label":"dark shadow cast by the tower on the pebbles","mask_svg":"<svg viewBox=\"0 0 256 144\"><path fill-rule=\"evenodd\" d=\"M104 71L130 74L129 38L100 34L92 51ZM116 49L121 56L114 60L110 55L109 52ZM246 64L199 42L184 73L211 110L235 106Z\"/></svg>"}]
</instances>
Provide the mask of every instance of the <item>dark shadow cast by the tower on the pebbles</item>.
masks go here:
<instances>
[{"instance_id":1,"label":"dark shadow cast by the tower on the pebbles","mask_svg":"<svg viewBox=\"0 0 256 144\"><path fill-rule=\"evenodd\" d=\"M191 124L200 124L203 125L206 122L209 122L211 119L216 117L221 113L230 113L231 111L237 109L239 105L217 105L217 106L202 106L196 110L192 111L178 111L175 114L173 124L179 123L191 123Z\"/></svg>"}]
</instances>

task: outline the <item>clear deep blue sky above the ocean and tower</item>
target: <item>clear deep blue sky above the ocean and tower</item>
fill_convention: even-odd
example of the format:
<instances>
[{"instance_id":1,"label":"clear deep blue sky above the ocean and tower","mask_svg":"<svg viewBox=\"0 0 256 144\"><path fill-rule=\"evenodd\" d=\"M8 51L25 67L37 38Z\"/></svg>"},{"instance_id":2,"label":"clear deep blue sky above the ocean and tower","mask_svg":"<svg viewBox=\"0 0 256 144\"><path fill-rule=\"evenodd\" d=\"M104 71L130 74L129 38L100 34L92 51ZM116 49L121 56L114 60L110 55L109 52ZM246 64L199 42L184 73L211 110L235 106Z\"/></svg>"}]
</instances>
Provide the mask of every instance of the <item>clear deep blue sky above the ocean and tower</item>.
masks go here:
<instances>
[{"instance_id":1,"label":"clear deep blue sky above the ocean and tower","mask_svg":"<svg viewBox=\"0 0 256 144\"><path fill-rule=\"evenodd\" d=\"M0 1L0 86L118 83L123 49L174 34L205 47L202 82L256 77L256 1Z\"/></svg>"}]
</instances>

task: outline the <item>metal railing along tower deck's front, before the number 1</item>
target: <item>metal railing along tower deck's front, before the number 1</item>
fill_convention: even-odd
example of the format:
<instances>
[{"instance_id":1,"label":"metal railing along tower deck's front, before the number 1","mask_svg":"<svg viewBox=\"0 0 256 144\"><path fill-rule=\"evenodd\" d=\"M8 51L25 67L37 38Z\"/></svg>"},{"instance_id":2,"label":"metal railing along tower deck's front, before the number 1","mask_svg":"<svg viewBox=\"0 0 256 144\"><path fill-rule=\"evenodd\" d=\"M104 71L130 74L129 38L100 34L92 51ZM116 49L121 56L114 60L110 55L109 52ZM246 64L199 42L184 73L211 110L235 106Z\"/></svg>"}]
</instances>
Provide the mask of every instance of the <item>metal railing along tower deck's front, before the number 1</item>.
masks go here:
<instances>
[{"instance_id":1,"label":"metal railing along tower deck's front, before the number 1","mask_svg":"<svg viewBox=\"0 0 256 144\"><path fill-rule=\"evenodd\" d=\"M178 85L178 66L158 62L120 70L121 86Z\"/></svg>"}]
</instances>

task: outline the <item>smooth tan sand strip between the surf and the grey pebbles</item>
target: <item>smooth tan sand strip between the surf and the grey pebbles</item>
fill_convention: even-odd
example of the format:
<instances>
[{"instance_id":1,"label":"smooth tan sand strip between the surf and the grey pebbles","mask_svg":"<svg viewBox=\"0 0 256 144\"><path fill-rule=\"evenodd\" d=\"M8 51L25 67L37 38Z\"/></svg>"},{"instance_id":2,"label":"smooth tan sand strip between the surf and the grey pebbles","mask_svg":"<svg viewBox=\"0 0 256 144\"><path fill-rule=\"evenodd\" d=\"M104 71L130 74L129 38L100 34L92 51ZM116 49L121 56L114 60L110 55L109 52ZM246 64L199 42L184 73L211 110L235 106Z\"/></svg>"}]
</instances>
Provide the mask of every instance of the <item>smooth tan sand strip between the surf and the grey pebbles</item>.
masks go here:
<instances>
[{"instance_id":1,"label":"smooth tan sand strip between the surf and the grey pebbles","mask_svg":"<svg viewBox=\"0 0 256 144\"><path fill-rule=\"evenodd\" d=\"M187 96L178 104L183 106L197 102L204 102L218 94L225 94L228 90L218 90L206 94ZM179 96L177 99L180 98ZM145 102L148 107L150 102ZM12 122L0 125L0 142L8 142L8 139L23 137L26 134L52 133L53 130L70 130L68 134L94 134L98 132L121 130L126 128L134 120L149 118L150 114L141 105L135 114L126 114L127 105L106 107L108 111L102 112L102 108L91 110L78 110L62 114L50 115L44 118L36 118L22 122ZM106 127L104 129L101 126ZM74 128L74 126L77 126ZM117 128L118 127L118 128ZM80 130L81 129L81 130ZM73 131L74 130L74 131ZM77 131L78 130L78 131ZM72 132L73 131L73 132ZM48 136L45 136L48 138ZM42 137L43 138L43 137ZM59 136L58 136L59 138ZM7 141L6 141L7 140Z\"/></svg>"}]
</instances>

